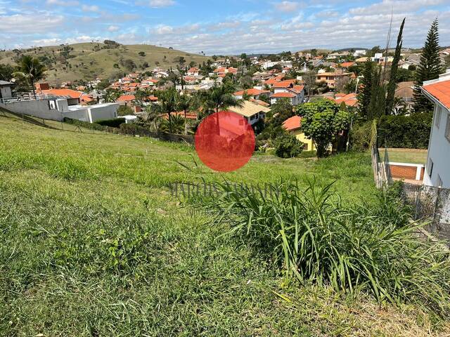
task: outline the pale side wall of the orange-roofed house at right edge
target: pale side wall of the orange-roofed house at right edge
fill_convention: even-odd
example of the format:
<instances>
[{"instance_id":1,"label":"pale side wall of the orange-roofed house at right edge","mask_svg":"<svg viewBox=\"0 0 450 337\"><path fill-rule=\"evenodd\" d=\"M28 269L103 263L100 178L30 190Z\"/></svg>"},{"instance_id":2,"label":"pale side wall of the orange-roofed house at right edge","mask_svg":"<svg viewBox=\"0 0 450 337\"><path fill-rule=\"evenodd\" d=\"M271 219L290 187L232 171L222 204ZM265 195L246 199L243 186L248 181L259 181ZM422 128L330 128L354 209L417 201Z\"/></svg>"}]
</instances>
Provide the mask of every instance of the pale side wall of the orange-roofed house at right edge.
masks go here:
<instances>
[{"instance_id":1,"label":"pale side wall of the orange-roofed house at right edge","mask_svg":"<svg viewBox=\"0 0 450 337\"><path fill-rule=\"evenodd\" d=\"M438 107L440 107L440 118L437 117ZM450 188L450 141L445 138L445 129L447 123L450 123L449 114L450 111L444 105L435 102L435 116L433 117L430 143L428 145L427 168L423 179L425 185L439 187L438 180L440 177L442 187ZM439 126L437 125L437 119L439 119ZM432 170L431 162L433 163Z\"/></svg>"}]
</instances>

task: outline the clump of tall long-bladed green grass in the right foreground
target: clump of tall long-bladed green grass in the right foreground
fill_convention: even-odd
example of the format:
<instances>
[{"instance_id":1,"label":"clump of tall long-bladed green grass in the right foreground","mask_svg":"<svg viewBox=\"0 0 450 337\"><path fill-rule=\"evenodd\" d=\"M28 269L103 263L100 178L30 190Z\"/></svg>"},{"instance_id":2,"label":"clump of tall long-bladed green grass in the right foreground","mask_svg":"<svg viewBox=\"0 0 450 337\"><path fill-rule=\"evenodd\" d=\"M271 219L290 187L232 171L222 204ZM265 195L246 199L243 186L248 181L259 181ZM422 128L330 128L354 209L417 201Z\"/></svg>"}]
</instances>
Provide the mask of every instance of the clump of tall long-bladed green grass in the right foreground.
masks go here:
<instances>
[{"instance_id":1,"label":"clump of tall long-bladed green grass in the right foreground","mask_svg":"<svg viewBox=\"0 0 450 337\"><path fill-rule=\"evenodd\" d=\"M207 204L285 276L336 291L371 293L379 303L417 303L449 315L448 251L418 237L408 209L381 193L371 206L342 206L332 185L282 183L267 195L221 185Z\"/></svg>"}]
</instances>

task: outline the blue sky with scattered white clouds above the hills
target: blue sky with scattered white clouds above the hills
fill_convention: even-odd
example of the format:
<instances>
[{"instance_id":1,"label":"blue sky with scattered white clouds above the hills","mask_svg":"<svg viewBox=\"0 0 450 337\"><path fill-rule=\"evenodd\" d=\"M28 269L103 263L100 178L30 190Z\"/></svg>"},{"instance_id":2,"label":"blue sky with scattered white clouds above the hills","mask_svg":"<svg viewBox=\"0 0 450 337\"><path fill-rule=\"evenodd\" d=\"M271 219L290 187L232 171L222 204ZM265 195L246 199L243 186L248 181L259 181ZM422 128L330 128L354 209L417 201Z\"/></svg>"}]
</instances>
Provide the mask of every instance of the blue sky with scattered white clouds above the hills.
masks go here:
<instances>
[{"instance_id":1,"label":"blue sky with scattered white clouds above the hills","mask_svg":"<svg viewBox=\"0 0 450 337\"><path fill-rule=\"evenodd\" d=\"M436 17L450 45L449 0L0 0L0 48L104 39L208 55L383 46L391 13L394 34L406 17L404 46L422 46Z\"/></svg>"}]
</instances>

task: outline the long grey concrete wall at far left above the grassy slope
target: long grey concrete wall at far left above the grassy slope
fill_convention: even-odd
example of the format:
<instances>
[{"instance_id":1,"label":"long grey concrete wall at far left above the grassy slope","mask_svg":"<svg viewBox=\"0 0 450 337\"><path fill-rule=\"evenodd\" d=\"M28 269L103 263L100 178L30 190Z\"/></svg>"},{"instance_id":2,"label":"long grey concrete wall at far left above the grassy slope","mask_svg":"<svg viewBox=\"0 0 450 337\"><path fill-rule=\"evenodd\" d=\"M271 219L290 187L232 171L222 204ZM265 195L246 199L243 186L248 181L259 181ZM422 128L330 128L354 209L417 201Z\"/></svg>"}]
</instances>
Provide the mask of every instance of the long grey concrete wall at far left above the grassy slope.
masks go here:
<instances>
[{"instance_id":1,"label":"long grey concrete wall at far left above the grassy slope","mask_svg":"<svg viewBox=\"0 0 450 337\"><path fill-rule=\"evenodd\" d=\"M18 114L29 114L30 116L43 119L53 119L54 121L63 120L63 115L58 110L56 110L56 107L55 109L50 108L49 99L0 103L0 107L4 107L5 109L16 112Z\"/></svg>"}]
</instances>

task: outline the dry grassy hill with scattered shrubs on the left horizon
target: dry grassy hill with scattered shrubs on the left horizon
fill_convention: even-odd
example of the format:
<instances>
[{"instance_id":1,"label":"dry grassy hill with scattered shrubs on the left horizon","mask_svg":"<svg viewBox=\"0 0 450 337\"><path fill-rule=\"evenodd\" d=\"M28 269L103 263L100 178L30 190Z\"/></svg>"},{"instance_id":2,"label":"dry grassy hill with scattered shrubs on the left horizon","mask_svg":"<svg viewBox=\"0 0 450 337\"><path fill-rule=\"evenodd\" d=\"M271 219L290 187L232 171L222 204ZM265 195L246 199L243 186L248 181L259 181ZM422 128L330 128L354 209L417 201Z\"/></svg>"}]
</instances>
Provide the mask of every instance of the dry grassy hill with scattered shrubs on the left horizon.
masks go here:
<instances>
[{"instance_id":1,"label":"dry grassy hill with scattered shrubs on the left horizon","mask_svg":"<svg viewBox=\"0 0 450 337\"><path fill-rule=\"evenodd\" d=\"M15 65L15 60L20 55L33 55L46 62L47 80L51 83L60 83L96 77L117 77L118 74L129 73L131 68L124 64L127 60L133 61L136 70L141 71L151 70L157 65L165 68L175 67L181 56L185 58L186 65L190 62L198 64L207 60L203 55L145 44L105 48L105 44L90 42L71 44L67 47L68 53L65 53L63 46L1 51L0 63Z\"/></svg>"}]
</instances>

